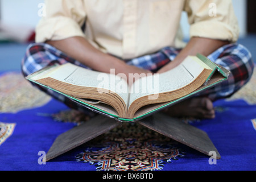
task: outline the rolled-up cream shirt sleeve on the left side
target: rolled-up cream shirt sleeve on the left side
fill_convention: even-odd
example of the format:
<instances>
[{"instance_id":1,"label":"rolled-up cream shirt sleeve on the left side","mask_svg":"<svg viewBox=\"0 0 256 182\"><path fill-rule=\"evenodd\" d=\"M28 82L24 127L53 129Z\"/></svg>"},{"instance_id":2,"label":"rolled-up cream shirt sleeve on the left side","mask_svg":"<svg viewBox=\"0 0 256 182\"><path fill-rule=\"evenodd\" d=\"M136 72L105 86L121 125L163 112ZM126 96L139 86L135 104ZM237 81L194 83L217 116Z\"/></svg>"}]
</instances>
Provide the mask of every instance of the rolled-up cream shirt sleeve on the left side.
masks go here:
<instances>
[{"instance_id":1,"label":"rolled-up cream shirt sleeve on the left side","mask_svg":"<svg viewBox=\"0 0 256 182\"><path fill-rule=\"evenodd\" d=\"M72 36L85 37L81 30L86 12L82 0L46 0L46 16L36 27L36 42L62 40Z\"/></svg>"}]
</instances>

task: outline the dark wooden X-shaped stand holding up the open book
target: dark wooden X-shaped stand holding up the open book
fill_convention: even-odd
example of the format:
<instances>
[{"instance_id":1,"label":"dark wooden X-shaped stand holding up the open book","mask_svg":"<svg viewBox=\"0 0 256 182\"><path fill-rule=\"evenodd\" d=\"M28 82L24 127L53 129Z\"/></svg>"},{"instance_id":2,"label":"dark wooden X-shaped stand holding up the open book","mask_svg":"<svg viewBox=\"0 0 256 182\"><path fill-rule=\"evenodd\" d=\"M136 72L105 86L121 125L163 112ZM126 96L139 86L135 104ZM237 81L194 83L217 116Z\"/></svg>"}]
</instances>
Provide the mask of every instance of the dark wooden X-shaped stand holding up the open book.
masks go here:
<instances>
[{"instance_id":1,"label":"dark wooden X-shaped stand holding up the open book","mask_svg":"<svg viewBox=\"0 0 256 182\"><path fill-rule=\"evenodd\" d=\"M138 121L138 123L188 147L194 148L203 154L209 155L210 151L215 151L217 154L216 159L221 158L207 133L181 122L179 119L168 117L162 113L156 113ZM90 121L59 135L47 152L46 161L56 158L118 126L122 126L122 122L98 115Z\"/></svg>"}]
</instances>

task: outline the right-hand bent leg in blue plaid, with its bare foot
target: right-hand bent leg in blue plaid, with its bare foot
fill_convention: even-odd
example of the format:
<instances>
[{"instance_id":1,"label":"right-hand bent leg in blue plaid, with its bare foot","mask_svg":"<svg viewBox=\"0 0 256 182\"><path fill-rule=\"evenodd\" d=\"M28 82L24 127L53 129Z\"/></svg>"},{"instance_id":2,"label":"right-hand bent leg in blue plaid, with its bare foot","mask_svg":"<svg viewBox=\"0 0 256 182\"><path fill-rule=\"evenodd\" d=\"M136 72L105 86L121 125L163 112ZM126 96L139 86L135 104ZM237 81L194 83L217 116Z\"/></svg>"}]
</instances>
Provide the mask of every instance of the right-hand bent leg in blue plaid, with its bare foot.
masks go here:
<instances>
[{"instance_id":1,"label":"right-hand bent leg in blue plaid, with its bare foot","mask_svg":"<svg viewBox=\"0 0 256 182\"><path fill-rule=\"evenodd\" d=\"M166 113L173 117L214 118L213 102L232 96L250 80L253 74L254 64L251 54L241 44L221 47L208 57L231 72L228 80L201 93L199 97L170 107L165 110Z\"/></svg>"}]
</instances>

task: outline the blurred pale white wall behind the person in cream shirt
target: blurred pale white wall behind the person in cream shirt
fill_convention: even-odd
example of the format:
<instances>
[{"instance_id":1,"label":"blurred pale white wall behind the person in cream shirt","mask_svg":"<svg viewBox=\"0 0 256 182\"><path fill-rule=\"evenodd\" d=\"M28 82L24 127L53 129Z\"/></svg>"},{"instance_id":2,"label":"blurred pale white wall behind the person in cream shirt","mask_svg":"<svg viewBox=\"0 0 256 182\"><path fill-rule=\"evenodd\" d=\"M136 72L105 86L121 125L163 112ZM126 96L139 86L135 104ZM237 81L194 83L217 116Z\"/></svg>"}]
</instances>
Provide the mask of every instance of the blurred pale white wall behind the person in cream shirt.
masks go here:
<instances>
[{"instance_id":1,"label":"blurred pale white wall behind the person in cream shirt","mask_svg":"<svg viewBox=\"0 0 256 182\"><path fill-rule=\"evenodd\" d=\"M23 24L35 27L40 17L38 16L39 3L44 0L0 0L1 16L4 23ZM111 0L110 0L111 1ZM199 0L200 1L200 0ZM225 0L223 0L225 1ZM246 35L246 0L233 0L234 10L240 24L241 35ZM181 26L185 38L189 36L187 18L183 14Z\"/></svg>"}]
</instances>

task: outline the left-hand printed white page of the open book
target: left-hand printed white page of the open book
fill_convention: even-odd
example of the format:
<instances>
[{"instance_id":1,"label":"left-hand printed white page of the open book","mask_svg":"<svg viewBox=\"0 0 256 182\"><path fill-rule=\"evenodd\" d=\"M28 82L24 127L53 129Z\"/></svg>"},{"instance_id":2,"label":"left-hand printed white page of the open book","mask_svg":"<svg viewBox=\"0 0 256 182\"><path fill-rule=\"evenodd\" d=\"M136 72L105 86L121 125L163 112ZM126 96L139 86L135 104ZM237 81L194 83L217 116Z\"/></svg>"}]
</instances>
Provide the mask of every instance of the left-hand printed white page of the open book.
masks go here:
<instances>
[{"instance_id":1,"label":"left-hand printed white page of the open book","mask_svg":"<svg viewBox=\"0 0 256 182\"><path fill-rule=\"evenodd\" d=\"M47 77L71 85L97 88L101 94L117 93L126 104L128 102L127 82L112 74L96 72L67 63L47 74Z\"/></svg>"}]
</instances>

